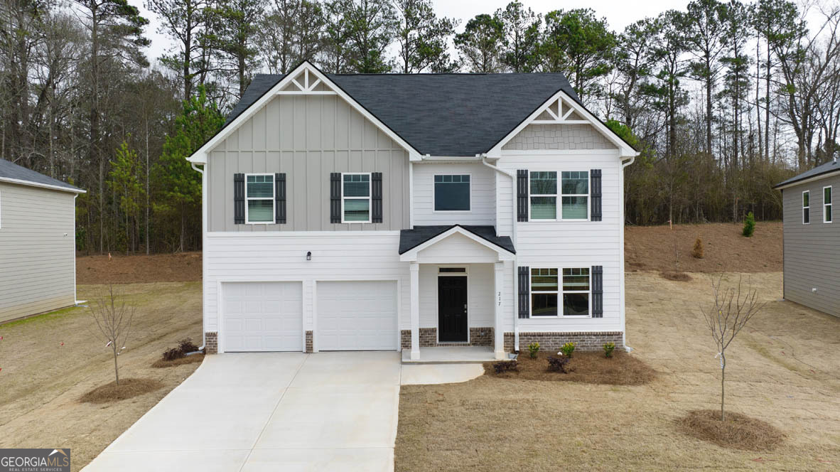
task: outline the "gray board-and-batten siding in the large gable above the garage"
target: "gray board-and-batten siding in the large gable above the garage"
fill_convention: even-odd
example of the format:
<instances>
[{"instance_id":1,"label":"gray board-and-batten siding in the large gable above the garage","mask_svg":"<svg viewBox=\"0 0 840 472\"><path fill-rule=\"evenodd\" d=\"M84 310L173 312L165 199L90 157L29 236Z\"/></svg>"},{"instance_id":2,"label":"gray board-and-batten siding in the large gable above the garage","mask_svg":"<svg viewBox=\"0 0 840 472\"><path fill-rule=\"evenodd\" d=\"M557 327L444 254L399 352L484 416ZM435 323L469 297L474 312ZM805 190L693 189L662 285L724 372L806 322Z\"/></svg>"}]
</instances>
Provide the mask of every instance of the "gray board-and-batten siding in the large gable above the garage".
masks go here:
<instances>
[{"instance_id":1,"label":"gray board-and-batten siding in the large gable above the garage","mask_svg":"<svg viewBox=\"0 0 840 472\"><path fill-rule=\"evenodd\" d=\"M408 228L408 155L338 96L279 96L208 154L208 231ZM286 173L286 224L234 224L234 174ZM330 223L331 172L382 173L382 223Z\"/></svg>"}]
</instances>

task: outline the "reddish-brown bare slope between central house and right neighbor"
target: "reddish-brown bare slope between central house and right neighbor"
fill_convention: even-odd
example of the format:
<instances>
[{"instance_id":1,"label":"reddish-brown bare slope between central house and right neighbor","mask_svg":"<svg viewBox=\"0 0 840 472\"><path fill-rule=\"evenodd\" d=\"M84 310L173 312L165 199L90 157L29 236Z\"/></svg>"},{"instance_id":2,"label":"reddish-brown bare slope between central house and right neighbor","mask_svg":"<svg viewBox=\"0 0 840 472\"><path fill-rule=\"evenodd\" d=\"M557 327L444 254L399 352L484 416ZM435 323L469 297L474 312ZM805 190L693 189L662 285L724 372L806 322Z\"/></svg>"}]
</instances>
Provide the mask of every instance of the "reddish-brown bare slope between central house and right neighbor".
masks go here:
<instances>
[{"instance_id":1,"label":"reddish-brown bare slope between central house and right neighbor","mask_svg":"<svg viewBox=\"0 0 840 472\"><path fill-rule=\"evenodd\" d=\"M633 226L624 233L626 270L675 270L674 244L679 269L686 272L780 272L782 223L756 223L752 238L741 235L741 224L706 223L668 226ZM697 238L703 241L703 259L691 256Z\"/></svg>"}]
</instances>

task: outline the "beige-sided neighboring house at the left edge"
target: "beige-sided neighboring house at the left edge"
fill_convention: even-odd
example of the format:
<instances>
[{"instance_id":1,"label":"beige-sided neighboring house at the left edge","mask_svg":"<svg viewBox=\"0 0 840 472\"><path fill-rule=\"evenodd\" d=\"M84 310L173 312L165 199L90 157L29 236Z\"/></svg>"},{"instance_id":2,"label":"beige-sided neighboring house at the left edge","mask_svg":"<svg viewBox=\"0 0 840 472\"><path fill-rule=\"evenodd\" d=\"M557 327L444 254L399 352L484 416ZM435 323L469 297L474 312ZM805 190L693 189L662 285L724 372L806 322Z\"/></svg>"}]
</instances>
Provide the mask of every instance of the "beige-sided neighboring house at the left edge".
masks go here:
<instances>
[{"instance_id":1,"label":"beige-sided neighboring house at the left edge","mask_svg":"<svg viewBox=\"0 0 840 472\"><path fill-rule=\"evenodd\" d=\"M0 159L0 323L76 303L76 197Z\"/></svg>"}]
</instances>

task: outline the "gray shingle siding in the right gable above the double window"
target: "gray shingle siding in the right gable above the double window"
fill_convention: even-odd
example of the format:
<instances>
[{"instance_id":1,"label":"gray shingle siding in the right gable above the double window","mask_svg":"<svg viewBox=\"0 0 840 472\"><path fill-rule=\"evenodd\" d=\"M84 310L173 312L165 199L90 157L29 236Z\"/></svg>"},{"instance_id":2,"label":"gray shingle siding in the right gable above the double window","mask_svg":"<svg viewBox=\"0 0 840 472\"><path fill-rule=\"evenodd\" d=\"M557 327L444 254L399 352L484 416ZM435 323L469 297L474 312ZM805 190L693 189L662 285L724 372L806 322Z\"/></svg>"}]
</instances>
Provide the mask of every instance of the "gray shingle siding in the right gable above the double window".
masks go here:
<instances>
[{"instance_id":1,"label":"gray shingle siding in the right gable above the double window","mask_svg":"<svg viewBox=\"0 0 840 472\"><path fill-rule=\"evenodd\" d=\"M501 147L504 150L617 149L589 124L529 124Z\"/></svg>"}]
</instances>

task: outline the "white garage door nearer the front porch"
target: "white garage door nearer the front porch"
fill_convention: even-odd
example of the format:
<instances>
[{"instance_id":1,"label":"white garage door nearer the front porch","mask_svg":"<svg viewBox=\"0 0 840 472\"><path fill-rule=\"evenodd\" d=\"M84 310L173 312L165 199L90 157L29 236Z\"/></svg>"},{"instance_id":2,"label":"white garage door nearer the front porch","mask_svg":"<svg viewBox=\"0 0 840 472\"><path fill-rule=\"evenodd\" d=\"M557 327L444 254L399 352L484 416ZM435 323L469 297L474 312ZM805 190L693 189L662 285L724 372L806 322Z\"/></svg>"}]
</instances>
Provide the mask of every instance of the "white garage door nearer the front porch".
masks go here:
<instances>
[{"instance_id":1,"label":"white garage door nearer the front porch","mask_svg":"<svg viewBox=\"0 0 840 472\"><path fill-rule=\"evenodd\" d=\"M396 350L396 282L318 282L318 350Z\"/></svg>"}]
</instances>

